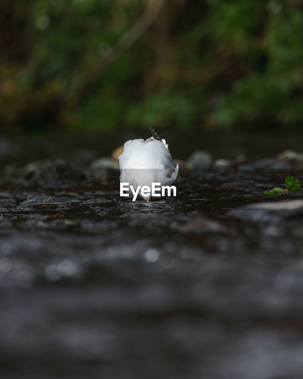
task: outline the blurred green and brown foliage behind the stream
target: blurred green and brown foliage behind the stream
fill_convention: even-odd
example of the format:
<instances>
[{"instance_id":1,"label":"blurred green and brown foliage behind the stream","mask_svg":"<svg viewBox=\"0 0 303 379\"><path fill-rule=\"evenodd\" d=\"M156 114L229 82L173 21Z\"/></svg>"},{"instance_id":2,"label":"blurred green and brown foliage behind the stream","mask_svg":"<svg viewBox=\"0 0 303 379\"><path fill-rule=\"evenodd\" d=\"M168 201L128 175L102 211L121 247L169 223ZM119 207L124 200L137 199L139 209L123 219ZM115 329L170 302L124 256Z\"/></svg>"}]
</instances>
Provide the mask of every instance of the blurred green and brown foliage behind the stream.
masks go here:
<instances>
[{"instance_id":1,"label":"blurred green and brown foliage behind the stream","mask_svg":"<svg viewBox=\"0 0 303 379\"><path fill-rule=\"evenodd\" d=\"M0 130L300 126L302 36L303 0L2 0Z\"/></svg>"}]
</instances>

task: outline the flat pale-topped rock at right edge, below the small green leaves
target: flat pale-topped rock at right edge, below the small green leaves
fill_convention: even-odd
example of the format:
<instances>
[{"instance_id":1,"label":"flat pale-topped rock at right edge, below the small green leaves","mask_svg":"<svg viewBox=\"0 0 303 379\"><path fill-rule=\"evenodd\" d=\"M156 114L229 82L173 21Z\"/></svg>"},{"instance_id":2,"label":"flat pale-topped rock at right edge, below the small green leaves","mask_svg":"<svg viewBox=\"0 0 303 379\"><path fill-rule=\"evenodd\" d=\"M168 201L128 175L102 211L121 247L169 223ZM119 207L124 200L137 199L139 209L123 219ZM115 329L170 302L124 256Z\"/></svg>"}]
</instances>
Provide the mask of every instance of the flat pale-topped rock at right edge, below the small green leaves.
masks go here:
<instances>
[{"instance_id":1,"label":"flat pale-topped rock at right edge, below the small green leaves","mask_svg":"<svg viewBox=\"0 0 303 379\"><path fill-rule=\"evenodd\" d=\"M233 209L227 216L242 221L280 222L303 217L303 200L268 201Z\"/></svg>"}]
</instances>

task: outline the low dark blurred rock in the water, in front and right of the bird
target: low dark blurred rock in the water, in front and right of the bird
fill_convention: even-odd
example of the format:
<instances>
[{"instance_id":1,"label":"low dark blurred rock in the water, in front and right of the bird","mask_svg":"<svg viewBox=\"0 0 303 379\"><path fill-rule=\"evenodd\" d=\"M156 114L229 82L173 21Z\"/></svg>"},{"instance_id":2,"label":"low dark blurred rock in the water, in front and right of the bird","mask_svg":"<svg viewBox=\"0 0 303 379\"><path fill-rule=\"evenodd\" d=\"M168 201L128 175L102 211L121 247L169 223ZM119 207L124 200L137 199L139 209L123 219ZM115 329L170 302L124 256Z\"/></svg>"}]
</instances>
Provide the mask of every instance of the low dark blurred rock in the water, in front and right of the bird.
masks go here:
<instances>
[{"instance_id":1,"label":"low dark blurred rock in the water, in front and right of the bird","mask_svg":"<svg viewBox=\"0 0 303 379\"><path fill-rule=\"evenodd\" d=\"M187 221L180 231L186 234L224 233L226 228L207 217L195 217Z\"/></svg>"}]
</instances>

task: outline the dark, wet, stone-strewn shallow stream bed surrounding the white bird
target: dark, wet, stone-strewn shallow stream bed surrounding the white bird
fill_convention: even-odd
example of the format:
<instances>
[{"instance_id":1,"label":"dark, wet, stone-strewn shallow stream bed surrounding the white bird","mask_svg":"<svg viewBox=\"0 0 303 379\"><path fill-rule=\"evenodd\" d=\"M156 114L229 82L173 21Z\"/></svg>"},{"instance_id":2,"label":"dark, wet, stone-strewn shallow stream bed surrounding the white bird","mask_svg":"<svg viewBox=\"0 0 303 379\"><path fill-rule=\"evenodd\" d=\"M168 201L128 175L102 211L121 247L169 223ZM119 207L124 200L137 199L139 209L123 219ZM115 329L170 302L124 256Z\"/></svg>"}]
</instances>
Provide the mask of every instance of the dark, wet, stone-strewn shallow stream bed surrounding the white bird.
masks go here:
<instances>
[{"instance_id":1,"label":"dark, wet, stone-strewn shallow stream bed surrounding the white bird","mask_svg":"<svg viewBox=\"0 0 303 379\"><path fill-rule=\"evenodd\" d=\"M177 197L146 203L120 198L94 153L28 165L9 151L2 378L302 377L303 196L263 195L303 183L300 155L184 158Z\"/></svg>"}]
</instances>

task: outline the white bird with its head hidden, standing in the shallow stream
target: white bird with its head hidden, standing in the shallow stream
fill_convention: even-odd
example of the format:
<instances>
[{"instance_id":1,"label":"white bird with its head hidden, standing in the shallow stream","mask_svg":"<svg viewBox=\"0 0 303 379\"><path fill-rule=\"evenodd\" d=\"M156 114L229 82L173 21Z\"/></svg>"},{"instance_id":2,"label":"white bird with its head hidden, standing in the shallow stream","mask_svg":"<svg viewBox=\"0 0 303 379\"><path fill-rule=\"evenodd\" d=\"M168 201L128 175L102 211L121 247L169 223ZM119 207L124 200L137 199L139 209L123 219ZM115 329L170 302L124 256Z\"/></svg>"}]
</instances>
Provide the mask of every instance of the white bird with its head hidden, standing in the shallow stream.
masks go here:
<instances>
[{"instance_id":1,"label":"white bird with its head hidden, standing in the shallow stream","mask_svg":"<svg viewBox=\"0 0 303 379\"><path fill-rule=\"evenodd\" d=\"M146 201L150 201L152 194L142 194L142 186L152 188L152 183L161 183L161 187L171 186L179 169L178 163L176 166L173 164L165 139L161 139L153 128L150 131L152 137L146 141L133 139L125 142L123 153L118 157L120 183L129 183L135 191L141 186L138 194Z\"/></svg>"}]
</instances>

